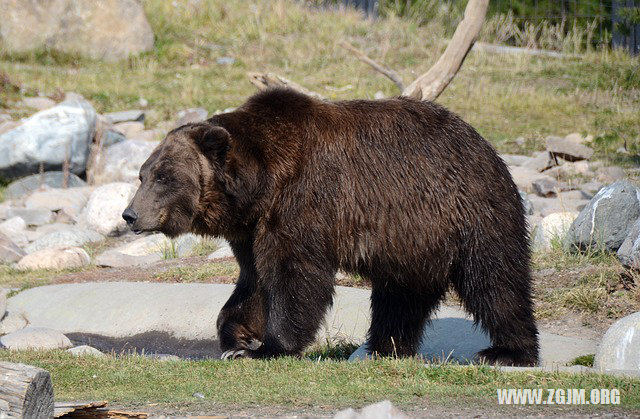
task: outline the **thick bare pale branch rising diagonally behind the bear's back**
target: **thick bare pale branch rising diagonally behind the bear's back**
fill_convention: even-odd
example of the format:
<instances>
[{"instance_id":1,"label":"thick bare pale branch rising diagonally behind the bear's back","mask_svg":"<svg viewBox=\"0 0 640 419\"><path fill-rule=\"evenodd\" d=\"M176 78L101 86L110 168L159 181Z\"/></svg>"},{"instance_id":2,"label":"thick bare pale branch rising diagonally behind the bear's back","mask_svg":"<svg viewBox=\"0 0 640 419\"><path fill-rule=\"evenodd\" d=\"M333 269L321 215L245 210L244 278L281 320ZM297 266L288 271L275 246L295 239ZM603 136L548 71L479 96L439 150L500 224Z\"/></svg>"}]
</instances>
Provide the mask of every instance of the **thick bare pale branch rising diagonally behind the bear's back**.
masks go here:
<instances>
[{"instance_id":1,"label":"thick bare pale branch rising diagonally behind the bear's back","mask_svg":"<svg viewBox=\"0 0 640 419\"><path fill-rule=\"evenodd\" d=\"M435 100L453 80L467 53L480 34L487 14L489 0L469 0L464 19L458 24L451 42L442 56L426 73L413 81L403 96L420 100Z\"/></svg>"}]
</instances>

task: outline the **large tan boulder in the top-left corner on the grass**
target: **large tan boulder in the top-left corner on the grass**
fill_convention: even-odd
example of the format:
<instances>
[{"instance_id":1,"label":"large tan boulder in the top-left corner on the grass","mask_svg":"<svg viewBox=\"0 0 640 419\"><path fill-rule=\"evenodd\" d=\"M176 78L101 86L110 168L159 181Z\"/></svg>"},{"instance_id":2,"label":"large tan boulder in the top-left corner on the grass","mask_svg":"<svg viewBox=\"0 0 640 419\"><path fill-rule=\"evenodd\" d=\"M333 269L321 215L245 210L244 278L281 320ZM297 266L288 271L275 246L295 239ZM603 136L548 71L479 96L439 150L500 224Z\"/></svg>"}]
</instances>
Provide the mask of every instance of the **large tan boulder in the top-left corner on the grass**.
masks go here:
<instances>
[{"instance_id":1,"label":"large tan boulder in the top-left corner on the grass","mask_svg":"<svg viewBox=\"0 0 640 419\"><path fill-rule=\"evenodd\" d=\"M0 9L9 51L46 47L113 61L153 47L153 31L135 0L2 0Z\"/></svg>"}]
</instances>

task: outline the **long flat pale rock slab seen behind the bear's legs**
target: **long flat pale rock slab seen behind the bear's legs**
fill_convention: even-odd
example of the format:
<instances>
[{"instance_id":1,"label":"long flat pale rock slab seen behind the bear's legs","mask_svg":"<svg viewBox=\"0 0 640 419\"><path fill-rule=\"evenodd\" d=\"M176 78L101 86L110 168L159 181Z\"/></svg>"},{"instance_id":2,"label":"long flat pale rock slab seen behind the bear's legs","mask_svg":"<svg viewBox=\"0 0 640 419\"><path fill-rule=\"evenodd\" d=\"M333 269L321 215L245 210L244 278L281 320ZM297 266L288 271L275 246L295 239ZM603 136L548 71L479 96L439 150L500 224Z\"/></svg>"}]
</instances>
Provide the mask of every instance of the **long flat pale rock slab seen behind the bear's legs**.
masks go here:
<instances>
[{"instance_id":1,"label":"long flat pale rock slab seen behind the bear's legs","mask_svg":"<svg viewBox=\"0 0 640 419\"><path fill-rule=\"evenodd\" d=\"M102 352L144 349L182 357L218 356L216 319L233 290L229 284L156 284L109 282L60 284L32 288L8 301L31 326L56 329L75 344ZM318 333L320 341L364 342L369 327L370 291L336 287L334 306ZM438 359L451 354L470 359L489 346L487 336L466 314L442 307L423 349ZM543 363L566 363L596 353L596 342L550 333L541 334ZM364 355L360 348L352 358Z\"/></svg>"}]
</instances>

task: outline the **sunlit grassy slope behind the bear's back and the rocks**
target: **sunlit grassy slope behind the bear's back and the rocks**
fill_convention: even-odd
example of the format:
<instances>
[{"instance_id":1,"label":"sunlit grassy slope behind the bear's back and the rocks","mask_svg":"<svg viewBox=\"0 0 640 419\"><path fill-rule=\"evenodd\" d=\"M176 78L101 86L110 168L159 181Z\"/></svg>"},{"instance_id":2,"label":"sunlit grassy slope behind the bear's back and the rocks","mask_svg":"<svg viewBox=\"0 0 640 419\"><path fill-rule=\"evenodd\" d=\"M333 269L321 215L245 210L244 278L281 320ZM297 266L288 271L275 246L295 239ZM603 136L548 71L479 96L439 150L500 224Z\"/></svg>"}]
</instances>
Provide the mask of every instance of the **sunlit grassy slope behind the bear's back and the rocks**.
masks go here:
<instances>
[{"instance_id":1,"label":"sunlit grassy slope behind the bear's back and the rocks","mask_svg":"<svg viewBox=\"0 0 640 419\"><path fill-rule=\"evenodd\" d=\"M336 45L346 39L394 68L405 82L442 53L450 24L393 14L376 21L357 13L309 8L289 0L195 3L145 0L155 48L118 63L54 51L0 52L0 72L23 91L78 92L107 112L149 101L147 125L184 108L210 112L237 106L255 90L247 71L273 71L331 99L396 95L397 88ZM483 40L495 40L490 22ZM495 26L495 25L494 25ZM493 32L492 32L493 31ZM235 59L217 64L221 56ZM546 135L570 132L611 138L598 156L636 147L640 134L639 59L619 51L589 51L566 59L472 52L438 101L474 125L499 149L529 152ZM8 91L5 100L17 99ZM20 109L11 109L18 115ZM513 140L524 136L525 146Z\"/></svg>"}]
</instances>

